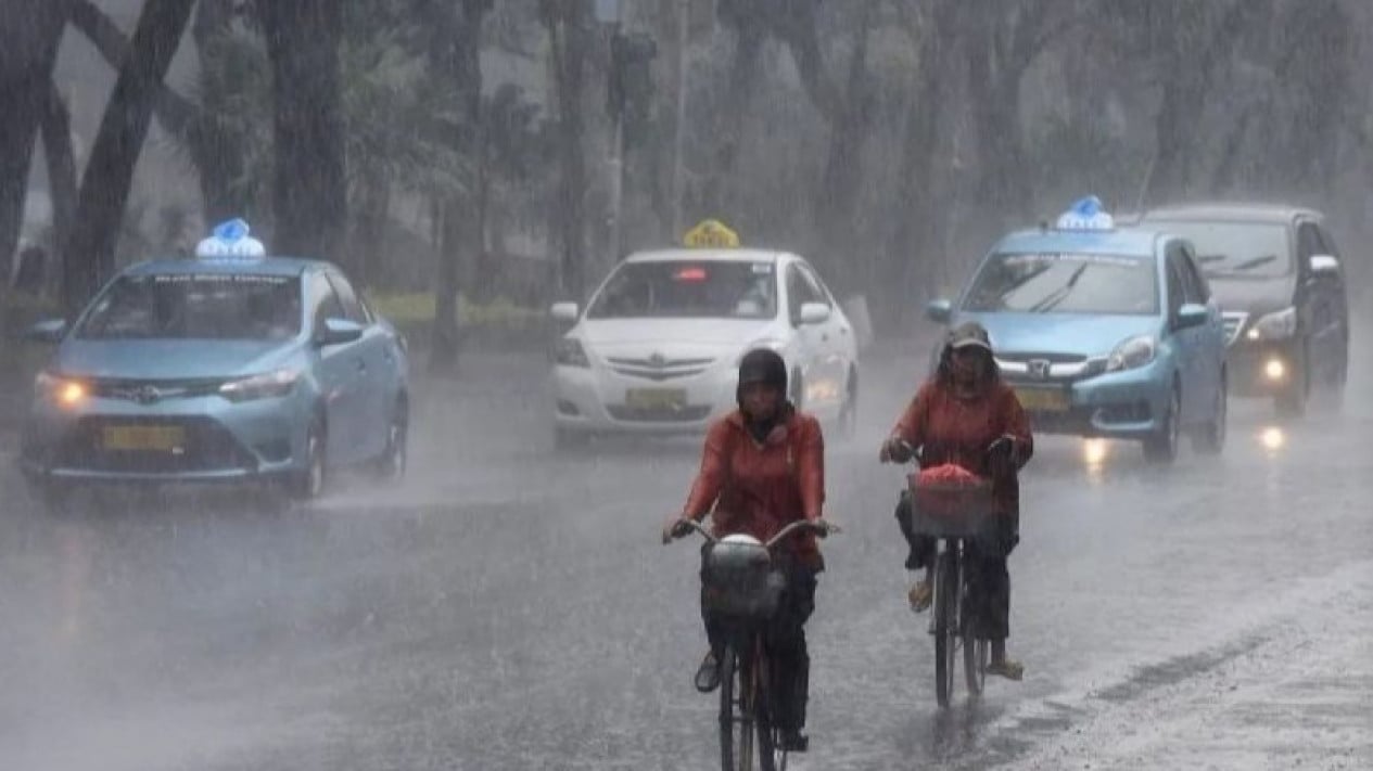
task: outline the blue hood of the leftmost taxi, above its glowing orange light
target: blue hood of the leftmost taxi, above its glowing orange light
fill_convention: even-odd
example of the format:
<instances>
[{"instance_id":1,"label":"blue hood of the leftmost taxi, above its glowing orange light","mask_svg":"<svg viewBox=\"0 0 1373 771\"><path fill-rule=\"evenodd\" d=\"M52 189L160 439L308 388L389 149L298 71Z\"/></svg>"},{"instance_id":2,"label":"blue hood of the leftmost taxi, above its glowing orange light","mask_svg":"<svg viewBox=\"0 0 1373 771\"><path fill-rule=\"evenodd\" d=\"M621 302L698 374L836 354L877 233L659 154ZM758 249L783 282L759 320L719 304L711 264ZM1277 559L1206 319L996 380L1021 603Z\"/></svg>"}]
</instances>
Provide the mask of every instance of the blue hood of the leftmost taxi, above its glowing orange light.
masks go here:
<instances>
[{"instance_id":1,"label":"blue hood of the leftmost taxi, above its glowing orange light","mask_svg":"<svg viewBox=\"0 0 1373 771\"><path fill-rule=\"evenodd\" d=\"M298 342L280 340L81 340L58 348L54 369L82 377L199 380L270 372Z\"/></svg>"}]
</instances>

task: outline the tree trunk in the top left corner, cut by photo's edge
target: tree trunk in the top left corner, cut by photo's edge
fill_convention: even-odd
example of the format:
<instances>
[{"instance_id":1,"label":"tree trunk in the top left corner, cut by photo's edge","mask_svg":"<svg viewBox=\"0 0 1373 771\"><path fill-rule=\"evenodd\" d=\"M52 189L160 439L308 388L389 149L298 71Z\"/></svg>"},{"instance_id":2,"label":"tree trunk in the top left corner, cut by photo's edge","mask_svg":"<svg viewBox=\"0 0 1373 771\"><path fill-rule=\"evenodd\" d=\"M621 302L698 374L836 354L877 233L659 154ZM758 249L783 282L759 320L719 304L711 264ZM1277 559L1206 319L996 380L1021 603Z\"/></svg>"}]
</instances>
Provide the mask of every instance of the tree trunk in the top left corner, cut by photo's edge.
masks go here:
<instances>
[{"instance_id":1,"label":"tree trunk in the top left corner, cut by photo's edge","mask_svg":"<svg viewBox=\"0 0 1373 771\"><path fill-rule=\"evenodd\" d=\"M48 103L65 0L8 0L0 10L0 280L23 226L25 193L38 121Z\"/></svg>"}]
</instances>

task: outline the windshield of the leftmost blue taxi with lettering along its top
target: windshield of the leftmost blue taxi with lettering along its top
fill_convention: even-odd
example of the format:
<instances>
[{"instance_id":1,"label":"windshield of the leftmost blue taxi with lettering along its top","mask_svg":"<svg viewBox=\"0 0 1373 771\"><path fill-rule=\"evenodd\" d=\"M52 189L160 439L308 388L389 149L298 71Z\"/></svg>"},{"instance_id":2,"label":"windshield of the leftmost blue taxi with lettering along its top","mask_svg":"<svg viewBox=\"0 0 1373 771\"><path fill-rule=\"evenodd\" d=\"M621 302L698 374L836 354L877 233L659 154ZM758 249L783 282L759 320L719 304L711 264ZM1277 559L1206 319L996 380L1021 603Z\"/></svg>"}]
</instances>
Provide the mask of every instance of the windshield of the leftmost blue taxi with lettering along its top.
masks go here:
<instances>
[{"instance_id":1,"label":"windshield of the leftmost blue taxi with lettering along its top","mask_svg":"<svg viewBox=\"0 0 1373 771\"><path fill-rule=\"evenodd\" d=\"M286 340L301 331L301 281L290 276L124 276L100 295L89 340Z\"/></svg>"}]
</instances>

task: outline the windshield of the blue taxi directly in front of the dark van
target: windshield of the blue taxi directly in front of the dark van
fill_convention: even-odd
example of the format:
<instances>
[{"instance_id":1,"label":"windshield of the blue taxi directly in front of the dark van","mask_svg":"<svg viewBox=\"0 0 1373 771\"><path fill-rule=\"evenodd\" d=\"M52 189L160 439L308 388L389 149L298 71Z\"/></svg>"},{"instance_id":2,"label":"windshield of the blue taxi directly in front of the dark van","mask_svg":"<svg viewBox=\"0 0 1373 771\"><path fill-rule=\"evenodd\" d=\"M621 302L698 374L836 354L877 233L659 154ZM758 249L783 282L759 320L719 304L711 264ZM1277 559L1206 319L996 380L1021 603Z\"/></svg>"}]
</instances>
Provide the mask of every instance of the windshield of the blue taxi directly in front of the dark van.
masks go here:
<instances>
[{"instance_id":1,"label":"windshield of the blue taxi directly in front of the dark van","mask_svg":"<svg viewBox=\"0 0 1373 771\"><path fill-rule=\"evenodd\" d=\"M962 307L1153 316L1159 281L1152 257L1000 252L983 265Z\"/></svg>"}]
</instances>

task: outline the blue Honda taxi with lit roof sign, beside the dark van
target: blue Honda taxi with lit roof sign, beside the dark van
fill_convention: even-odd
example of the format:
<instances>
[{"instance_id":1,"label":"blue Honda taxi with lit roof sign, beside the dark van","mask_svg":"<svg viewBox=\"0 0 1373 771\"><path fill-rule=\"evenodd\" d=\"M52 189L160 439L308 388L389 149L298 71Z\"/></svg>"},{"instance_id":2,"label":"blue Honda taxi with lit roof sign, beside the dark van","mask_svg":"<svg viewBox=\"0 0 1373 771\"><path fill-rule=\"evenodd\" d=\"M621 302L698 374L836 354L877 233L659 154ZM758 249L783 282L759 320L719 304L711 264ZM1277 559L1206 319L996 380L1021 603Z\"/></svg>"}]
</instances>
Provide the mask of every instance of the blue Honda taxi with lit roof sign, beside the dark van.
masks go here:
<instances>
[{"instance_id":1,"label":"blue Honda taxi with lit roof sign, beside the dark van","mask_svg":"<svg viewBox=\"0 0 1373 771\"><path fill-rule=\"evenodd\" d=\"M927 310L987 328L1041 434L1134 439L1162 462L1184 434L1199 451L1225 446L1226 337L1192 244L1116 226L1094 196L1001 239L957 299Z\"/></svg>"}]
</instances>

